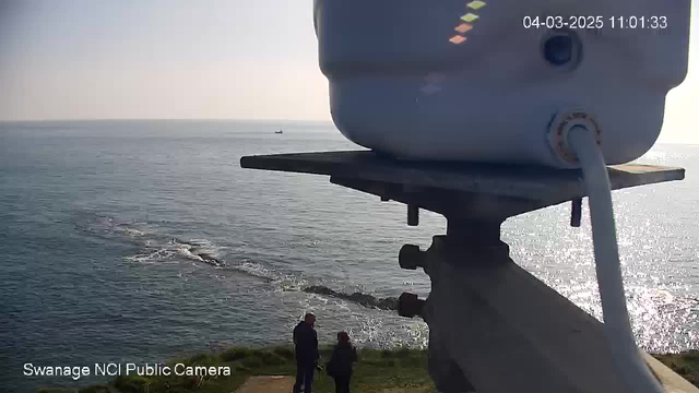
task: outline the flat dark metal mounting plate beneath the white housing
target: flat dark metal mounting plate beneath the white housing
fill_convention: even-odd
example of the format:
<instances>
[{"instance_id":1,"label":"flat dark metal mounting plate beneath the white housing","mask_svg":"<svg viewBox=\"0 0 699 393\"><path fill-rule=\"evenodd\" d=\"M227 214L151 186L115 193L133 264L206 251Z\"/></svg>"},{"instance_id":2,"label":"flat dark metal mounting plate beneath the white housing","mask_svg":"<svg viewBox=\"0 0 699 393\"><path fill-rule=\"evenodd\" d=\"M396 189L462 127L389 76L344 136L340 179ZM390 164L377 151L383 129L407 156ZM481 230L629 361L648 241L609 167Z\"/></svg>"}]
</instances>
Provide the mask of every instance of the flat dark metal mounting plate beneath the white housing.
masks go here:
<instances>
[{"instance_id":1,"label":"flat dark metal mounting plate beneath the white housing","mask_svg":"<svg viewBox=\"0 0 699 393\"><path fill-rule=\"evenodd\" d=\"M581 172L523 165L407 162L370 151L246 156L244 168L331 176L341 186L447 216L501 219L585 196ZM612 189L682 180L685 169L611 166Z\"/></svg>"}]
</instances>

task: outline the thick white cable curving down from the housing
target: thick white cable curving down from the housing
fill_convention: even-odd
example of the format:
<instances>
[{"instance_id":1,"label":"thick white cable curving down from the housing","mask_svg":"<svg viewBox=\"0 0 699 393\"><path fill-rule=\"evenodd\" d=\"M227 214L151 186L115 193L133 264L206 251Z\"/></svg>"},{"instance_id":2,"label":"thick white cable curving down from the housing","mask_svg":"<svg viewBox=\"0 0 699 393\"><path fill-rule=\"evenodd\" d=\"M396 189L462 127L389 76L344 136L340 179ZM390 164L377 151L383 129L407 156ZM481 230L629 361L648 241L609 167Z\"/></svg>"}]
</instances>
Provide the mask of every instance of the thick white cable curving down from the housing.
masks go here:
<instances>
[{"instance_id":1,"label":"thick white cable curving down from the housing","mask_svg":"<svg viewBox=\"0 0 699 393\"><path fill-rule=\"evenodd\" d=\"M629 323L616 242L612 191L604 157L592 132L584 127L572 127L567 140L578 155L588 191L604 331L612 356L629 392L662 393L662 386L641 358Z\"/></svg>"}]
</instances>

